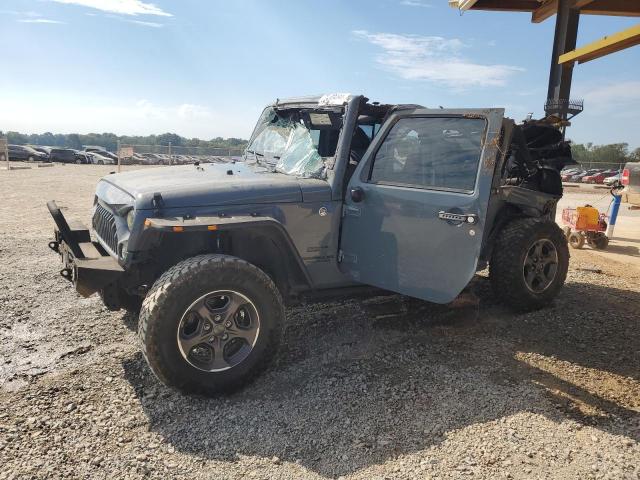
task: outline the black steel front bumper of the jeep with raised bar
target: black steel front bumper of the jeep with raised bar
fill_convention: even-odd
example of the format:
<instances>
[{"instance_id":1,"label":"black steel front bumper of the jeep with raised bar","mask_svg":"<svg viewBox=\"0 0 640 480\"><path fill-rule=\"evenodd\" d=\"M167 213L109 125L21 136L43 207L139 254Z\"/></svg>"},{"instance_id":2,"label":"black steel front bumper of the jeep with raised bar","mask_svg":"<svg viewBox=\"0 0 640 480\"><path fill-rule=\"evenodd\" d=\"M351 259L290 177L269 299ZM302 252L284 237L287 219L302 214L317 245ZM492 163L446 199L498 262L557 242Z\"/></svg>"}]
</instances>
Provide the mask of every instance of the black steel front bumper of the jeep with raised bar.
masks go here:
<instances>
[{"instance_id":1,"label":"black steel front bumper of the jeep with raised bar","mask_svg":"<svg viewBox=\"0 0 640 480\"><path fill-rule=\"evenodd\" d=\"M49 248L62 257L64 268L60 270L66 280L73 282L83 297L115 283L124 269L97 242L91 241L89 230L82 224L68 222L55 201L47 203L55 222L54 240Z\"/></svg>"}]
</instances>

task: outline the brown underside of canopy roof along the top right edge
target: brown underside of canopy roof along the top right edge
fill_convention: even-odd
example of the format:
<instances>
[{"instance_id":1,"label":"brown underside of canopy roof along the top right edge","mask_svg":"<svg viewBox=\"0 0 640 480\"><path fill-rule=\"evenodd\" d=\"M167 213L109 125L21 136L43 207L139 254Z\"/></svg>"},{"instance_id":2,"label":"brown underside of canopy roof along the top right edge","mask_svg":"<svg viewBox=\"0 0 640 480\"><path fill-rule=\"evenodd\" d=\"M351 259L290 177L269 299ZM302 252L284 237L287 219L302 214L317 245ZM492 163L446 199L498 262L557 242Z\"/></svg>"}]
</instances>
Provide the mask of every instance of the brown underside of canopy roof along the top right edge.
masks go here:
<instances>
[{"instance_id":1,"label":"brown underside of canopy roof along the top right edge","mask_svg":"<svg viewBox=\"0 0 640 480\"><path fill-rule=\"evenodd\" d=\"M449 0L460 10L531 12L531 21L541 22L554 15L559 0ZM586 15L640 17L639 0L571 0L572 7Z\"/></svg>"}]
</instances>

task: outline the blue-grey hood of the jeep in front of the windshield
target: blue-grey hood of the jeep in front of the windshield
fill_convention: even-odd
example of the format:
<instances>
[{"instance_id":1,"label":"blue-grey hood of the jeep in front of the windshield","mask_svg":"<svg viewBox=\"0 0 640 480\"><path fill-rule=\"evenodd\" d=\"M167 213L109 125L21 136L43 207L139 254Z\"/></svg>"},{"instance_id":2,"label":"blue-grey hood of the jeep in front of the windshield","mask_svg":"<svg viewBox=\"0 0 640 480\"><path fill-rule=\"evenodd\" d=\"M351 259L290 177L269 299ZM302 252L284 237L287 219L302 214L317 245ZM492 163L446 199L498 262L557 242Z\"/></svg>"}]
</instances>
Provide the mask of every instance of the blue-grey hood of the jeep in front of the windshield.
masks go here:
<instances>
[{"instance_id":1,"label":"blue-grey hood of the jeep in front of the windshield","mask_svg":"<svg viewBox=\"0 0 640 480\"><path fill-rule=\"evenodd\" d=\"M145 168L107 175L101 182L133 197L136 209L153 208L155 193L162 195L165 208L302 201L296 177L242 162Z\"/></svg>"}]
</instances>

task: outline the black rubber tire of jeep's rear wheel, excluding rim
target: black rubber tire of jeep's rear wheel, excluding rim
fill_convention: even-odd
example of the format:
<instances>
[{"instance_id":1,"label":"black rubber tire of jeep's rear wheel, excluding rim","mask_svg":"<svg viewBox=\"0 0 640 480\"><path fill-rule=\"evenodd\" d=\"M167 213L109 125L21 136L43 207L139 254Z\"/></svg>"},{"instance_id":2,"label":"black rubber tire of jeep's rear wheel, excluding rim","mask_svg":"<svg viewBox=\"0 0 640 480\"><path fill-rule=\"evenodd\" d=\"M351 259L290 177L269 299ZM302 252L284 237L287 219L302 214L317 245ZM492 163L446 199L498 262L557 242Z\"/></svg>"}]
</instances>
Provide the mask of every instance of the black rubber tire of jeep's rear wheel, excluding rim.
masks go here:
<instances>
[{"instance_id":1,"label":"black rubber tire of jeep's rear wheel, excluding rim","mask_svg":"<svg viewBox=\"0 0 640 480\"><path fill-rule=\"evenodd\" d=\"M529 249L538 240L553 243L558 256L556 275L542 292L532 291L524 279L524 262ZM489 279L494 295L516 311L532 311L548 305L560 292L569 268L567 239L551 220L522 218L505 225L496 239Z\"/></svg>"}]
</instances>

